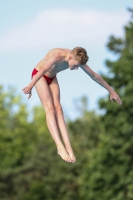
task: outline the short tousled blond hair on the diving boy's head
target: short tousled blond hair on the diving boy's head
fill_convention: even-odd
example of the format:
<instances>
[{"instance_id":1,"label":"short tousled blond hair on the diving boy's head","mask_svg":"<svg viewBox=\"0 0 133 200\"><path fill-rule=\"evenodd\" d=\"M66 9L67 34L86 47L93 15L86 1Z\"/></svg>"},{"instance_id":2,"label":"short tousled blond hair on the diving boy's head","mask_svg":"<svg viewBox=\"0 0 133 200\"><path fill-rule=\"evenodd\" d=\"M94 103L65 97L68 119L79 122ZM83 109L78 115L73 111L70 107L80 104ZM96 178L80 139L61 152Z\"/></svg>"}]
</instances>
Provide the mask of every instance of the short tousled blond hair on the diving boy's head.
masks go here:
<instances>
[{"instance_id":1,"label":"short tousled blond hair on the diving boy's head","mask_svg":"<svg viewBox=\"0 0 133 200\"><path fill-rule=\"evenodd\" d=\"M82 47L75 47L71 53L74 55L75 59L79 62L81 65L85 65L89 59L87 55L87 51Z\"/></svg>"}]
</instances>

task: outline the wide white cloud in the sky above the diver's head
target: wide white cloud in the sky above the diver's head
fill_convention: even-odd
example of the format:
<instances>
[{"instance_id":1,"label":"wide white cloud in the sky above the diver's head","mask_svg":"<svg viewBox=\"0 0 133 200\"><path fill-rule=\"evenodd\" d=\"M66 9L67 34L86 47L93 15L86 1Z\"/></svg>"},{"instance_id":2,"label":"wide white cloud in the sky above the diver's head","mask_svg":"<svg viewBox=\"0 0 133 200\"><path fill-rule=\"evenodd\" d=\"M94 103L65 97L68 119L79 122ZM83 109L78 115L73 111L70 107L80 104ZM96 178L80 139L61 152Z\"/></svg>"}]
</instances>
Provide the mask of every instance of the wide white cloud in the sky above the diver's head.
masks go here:
<instances>
[{"instance_id":1,"label":"wide white cloud in the sky above the diver's head","mask_svg":"<svg viewBox=\"0 0 133 200\"><path fill-rule=\"evenodd\" d=\"M86 41L88 45L103 44L110 34L121 34L127 20L125 10L110 13L97 10L43 11L32 21L0 35L0 52L51 44L54 47L74 40Z\"/></svg>"}]
</instances>

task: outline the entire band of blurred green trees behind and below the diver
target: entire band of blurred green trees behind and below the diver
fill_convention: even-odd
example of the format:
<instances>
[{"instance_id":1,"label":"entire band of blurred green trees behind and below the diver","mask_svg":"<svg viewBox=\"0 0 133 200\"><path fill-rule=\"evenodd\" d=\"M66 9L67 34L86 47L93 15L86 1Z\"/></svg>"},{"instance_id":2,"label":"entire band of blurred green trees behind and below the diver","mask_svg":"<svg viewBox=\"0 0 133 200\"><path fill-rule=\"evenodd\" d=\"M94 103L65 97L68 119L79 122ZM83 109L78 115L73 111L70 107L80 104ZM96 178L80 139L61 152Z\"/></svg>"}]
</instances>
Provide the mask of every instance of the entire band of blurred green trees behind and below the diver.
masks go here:
<instances>
[{"instance_id":1,"label":"entire band of blurred green trees behind and below the diver","mask_svg":"<svg viewBox=\"0 0 133 200\"><path fill-rule=\"evenodd\" d=\"M77 157L64 162L45 123L42 108L29 110L16 89L0 86L0 200L132 200L133 199L133 10L124 38L110 36L101 76L123 106L99 100L104 114L88 110L79 99L80 116L68 120Z\"/></svg>"}]
</instances>

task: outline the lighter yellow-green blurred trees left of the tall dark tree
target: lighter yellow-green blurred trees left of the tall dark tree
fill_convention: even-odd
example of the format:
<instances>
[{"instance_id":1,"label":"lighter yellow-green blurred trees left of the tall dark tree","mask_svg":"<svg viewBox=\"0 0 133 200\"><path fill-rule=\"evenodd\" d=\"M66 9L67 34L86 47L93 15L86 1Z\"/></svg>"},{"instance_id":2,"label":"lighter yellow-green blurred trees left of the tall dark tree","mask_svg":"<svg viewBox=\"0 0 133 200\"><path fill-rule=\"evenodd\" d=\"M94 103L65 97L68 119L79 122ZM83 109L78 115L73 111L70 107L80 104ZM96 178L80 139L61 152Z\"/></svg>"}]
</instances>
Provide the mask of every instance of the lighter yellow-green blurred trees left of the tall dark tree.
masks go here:
<instances>
[{"instance_id":1,"label":"lighter yellow-green blurred trees left of the tall dark tree","mask_svg":"<svg viewBox=\"0 0 133 200\"><path fill-rule=\"evenodd\" d=\"M85 103L86 102L86 103ZM34 107L32 117L15 89L0 86L0 199L80 199L83 163L88 149L97 146L99 118L81 99L81 116L68 122L77 162L64 162L45 122L44 110ZM97 126L95 126L97 124Z\"/></svg>"}]
</instances>

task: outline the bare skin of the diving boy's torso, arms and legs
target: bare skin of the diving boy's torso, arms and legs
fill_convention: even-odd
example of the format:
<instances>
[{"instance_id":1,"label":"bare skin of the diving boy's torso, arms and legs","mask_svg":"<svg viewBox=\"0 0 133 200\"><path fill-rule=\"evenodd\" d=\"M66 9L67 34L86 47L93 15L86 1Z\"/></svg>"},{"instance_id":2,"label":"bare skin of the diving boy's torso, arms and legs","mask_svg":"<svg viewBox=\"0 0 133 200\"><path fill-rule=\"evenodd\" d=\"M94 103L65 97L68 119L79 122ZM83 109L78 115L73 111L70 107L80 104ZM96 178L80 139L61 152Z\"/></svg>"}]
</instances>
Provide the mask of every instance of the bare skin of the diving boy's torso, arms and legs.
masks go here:
<instances>
[{"instance_id":1,"label":"bare skin of the diving boy's torso, arms and legs","mask_svg":"<svg viewBox=\"0 0 133 200\"><path fill-rule=\"evenodd\" d=\"M70 70L75 70L79 67L83 69L85 73L87 73L94 81L109 91L111 101L115 100L119 105L122 105L118 94L87 64L79 64L69 49L56 48L49 51L36 65L35 68L38 70L38 73L34 75L30 84L22 89L24 94L29 94L29 99L32 95L32 88L35 86L41 103L45 109L47 126L57 146L57 152L66 162L75 162L76 157L71 147L60 104L60 89L58 81L55 77L52 83L48 85L45 78L42 76L45 74L48 77L54 77L57 73L63 70L68 68ZM65 147L61 142L59 130Z\"/></svg>"}]
</instances>

